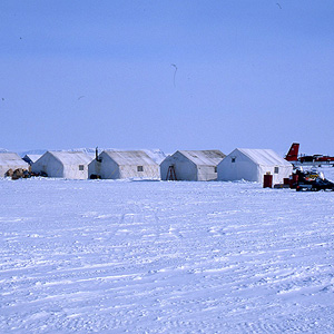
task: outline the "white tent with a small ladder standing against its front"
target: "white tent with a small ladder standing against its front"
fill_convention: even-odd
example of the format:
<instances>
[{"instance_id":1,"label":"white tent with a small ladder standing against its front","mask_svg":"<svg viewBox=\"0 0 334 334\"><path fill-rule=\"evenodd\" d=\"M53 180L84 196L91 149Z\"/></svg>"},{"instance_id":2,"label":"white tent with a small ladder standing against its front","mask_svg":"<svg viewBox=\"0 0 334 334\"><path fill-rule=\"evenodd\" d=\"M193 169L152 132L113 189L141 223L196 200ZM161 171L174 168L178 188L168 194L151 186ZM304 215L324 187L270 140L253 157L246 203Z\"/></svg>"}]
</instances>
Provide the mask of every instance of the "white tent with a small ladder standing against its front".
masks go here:
<instances>
[{"instance_id":1,"label":"white tent with a small ladder standing against its front","mask_svg":"<svg viewBox=\"0 0 334 334\"><path fill-rule=\"evenodd\" d=\"M215 180L225 155L218 150L177 150L160 165L164 180Z\"/></svg>"}]
</instances>

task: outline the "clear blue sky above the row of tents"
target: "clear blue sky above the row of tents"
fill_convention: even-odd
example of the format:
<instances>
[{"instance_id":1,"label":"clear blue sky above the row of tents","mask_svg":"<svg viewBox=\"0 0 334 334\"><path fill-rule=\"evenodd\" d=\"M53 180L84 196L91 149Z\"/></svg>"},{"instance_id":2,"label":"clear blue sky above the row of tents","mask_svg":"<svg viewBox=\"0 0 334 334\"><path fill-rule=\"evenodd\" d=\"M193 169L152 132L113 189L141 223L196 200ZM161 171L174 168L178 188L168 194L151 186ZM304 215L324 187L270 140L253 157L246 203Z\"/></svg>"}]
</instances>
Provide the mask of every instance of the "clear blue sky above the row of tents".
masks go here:
<instances>
[{"instance_id":1,"label":"clear blue sky above the row of tents","mask_svg":"<svg viewBox=\"0 0 334 334\"><path fill-rule=\"evenodd\" d=\"M0 147L334 155L333 18L332 0L2 0Z\"/></svg>"}]
</instances>

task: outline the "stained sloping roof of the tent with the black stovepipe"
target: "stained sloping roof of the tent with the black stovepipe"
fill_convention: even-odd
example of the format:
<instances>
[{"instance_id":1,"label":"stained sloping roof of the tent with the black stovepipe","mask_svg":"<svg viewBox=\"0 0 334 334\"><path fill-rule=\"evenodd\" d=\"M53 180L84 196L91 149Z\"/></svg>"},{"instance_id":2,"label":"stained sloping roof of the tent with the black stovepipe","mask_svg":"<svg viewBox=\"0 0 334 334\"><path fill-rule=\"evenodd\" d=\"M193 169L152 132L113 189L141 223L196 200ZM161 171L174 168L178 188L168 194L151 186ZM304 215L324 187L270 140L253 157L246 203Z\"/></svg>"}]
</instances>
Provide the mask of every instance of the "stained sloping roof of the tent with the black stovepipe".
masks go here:
<instances>
[{"instance_id":1,"label":"stained sloping roof of the tent with the black stovepipe","mask_svg":"<svg viewBox=\"0 0 334 334\"><path fill-rule=\"evenodd\" d=\"M118 166L124 165L157 165L145 151L143 150L104 150Z\"/></svg>"}]
</instances>

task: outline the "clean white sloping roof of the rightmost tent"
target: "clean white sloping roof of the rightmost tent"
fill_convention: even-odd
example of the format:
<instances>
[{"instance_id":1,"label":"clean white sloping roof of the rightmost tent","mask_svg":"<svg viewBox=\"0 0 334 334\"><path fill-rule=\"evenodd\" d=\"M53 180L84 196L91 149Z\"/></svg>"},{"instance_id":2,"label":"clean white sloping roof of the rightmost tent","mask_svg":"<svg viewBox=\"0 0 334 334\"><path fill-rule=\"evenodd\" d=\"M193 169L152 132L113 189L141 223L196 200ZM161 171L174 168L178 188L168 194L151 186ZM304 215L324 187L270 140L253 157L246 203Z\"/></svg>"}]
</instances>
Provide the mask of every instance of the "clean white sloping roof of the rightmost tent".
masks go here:
<instances>
[{"instance_id":1,"label":"clean white sloping roof of the rightmost tent","mask_svg":"<svg viewBox=\"0 0 334 334\"><path fill-rule=\"evenodd\" d=\"M237 148L236 150L247 156L250 160L253 160L257 165L292 166L291 163L286 161L284 158L278 156L272 149ZM233 155L233 153L230 155Z\"/></svg>"}]
</instances>

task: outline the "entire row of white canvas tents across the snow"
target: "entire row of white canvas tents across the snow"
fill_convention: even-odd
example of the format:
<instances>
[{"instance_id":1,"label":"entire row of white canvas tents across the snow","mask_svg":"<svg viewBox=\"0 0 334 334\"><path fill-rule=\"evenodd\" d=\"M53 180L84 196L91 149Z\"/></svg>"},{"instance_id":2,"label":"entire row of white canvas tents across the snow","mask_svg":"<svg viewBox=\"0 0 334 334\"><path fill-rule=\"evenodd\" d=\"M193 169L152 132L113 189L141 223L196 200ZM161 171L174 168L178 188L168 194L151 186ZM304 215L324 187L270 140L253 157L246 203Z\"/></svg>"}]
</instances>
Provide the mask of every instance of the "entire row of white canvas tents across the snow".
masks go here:
<instances>
[{"instance_id":1,"label":"entire row of white canvas tents across the snow","mask_svg":"<svg viewBox=\"0 0 334 334\"><path fill-rule=\"evenodd\" d=\"M33 174L68 179L161 179L161 180L249 180L263 183L273 175L282 184L293 166L272 149L236 148L229 155L220 150L178 150L157 163L143 150L104 150L89 156L84 151L47 151L43 155L0 153L0 177L9 169L29 169Z\"/></svg>"}]
</instances>

